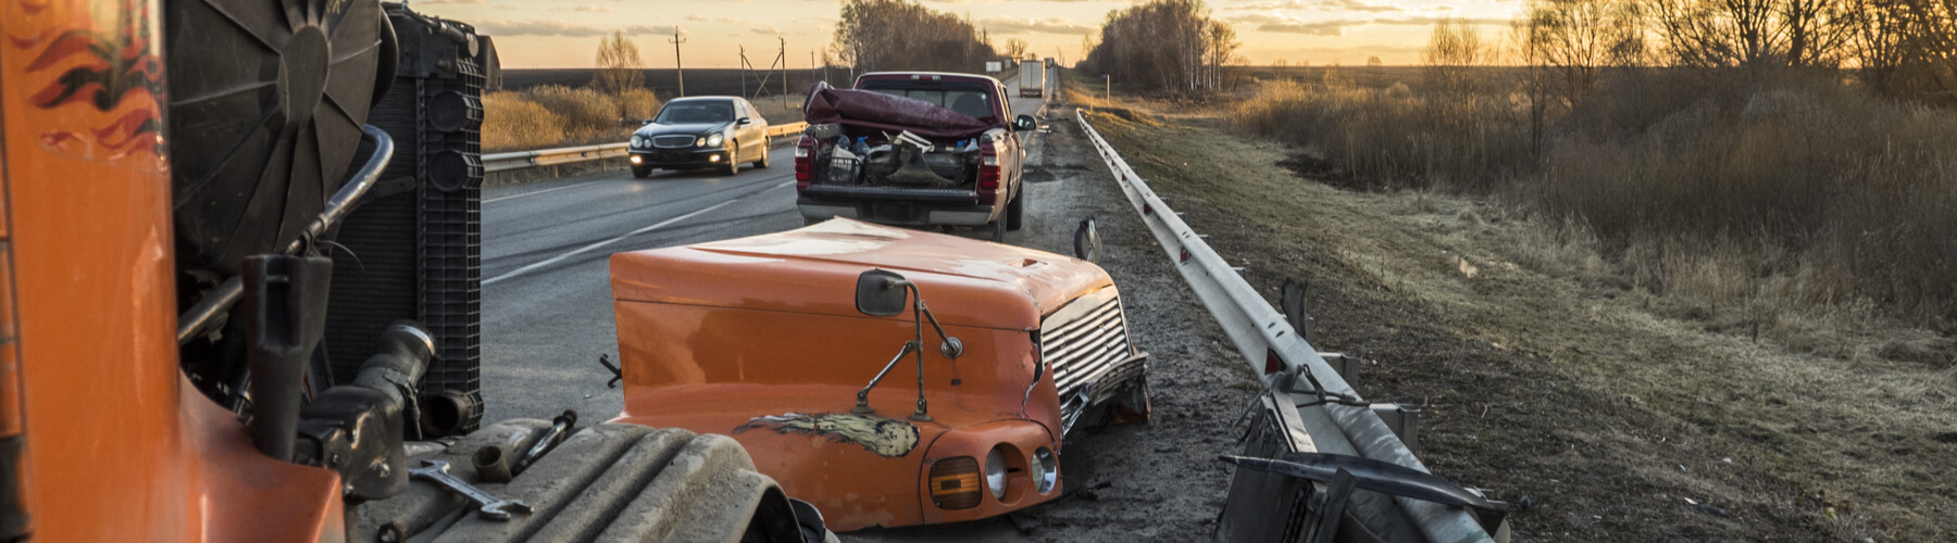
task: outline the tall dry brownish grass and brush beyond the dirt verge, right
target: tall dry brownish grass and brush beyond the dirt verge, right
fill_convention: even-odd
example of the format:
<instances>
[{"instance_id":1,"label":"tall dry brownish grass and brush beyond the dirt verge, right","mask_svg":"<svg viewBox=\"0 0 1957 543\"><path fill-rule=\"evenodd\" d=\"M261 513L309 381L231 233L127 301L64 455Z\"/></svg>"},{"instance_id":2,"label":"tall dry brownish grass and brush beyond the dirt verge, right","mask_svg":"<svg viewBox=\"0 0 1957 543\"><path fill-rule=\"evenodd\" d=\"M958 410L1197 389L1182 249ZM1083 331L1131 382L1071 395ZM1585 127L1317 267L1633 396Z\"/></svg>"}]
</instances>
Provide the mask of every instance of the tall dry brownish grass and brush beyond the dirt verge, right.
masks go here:
<instances>
[{"instance_id":1,"label":"tall dry brownish grass and brush beyond the dirt verge, right","mask_svg":"<svg viewBox=\"0 0 1957 543\"><path fill-rule=\"evenodd\" d=\"M1581 246L1536 250L1552 266L1628 277L1697 318L1738 320L1726 328L1793 342L1816 332L1802 320L1957 330L1951 111L1804 74L1626 72L1548 119L1540 156L1521 94L1274 80L1227 117L1323 160L1329 184L1511 203L1554 225L1538 242Z\"/></svg>"}]
</instances>

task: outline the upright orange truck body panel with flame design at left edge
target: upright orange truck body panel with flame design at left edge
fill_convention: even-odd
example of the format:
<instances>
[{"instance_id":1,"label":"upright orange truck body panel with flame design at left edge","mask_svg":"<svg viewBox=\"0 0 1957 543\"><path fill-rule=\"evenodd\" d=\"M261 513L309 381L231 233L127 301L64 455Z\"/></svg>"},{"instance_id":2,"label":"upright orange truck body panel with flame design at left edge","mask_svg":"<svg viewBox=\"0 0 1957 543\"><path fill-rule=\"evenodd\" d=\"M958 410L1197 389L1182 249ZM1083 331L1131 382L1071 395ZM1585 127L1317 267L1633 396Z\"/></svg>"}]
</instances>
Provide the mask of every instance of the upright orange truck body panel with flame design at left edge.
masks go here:
<instances>
[{"instance_id":1,"label":"upright orange truck body panel with flame design at left edge","mask_svg":"<svg viewBox=\"0 0 1957 543\"><path fill-rule=\"evenodd\" d=\"M256 453L178 371L157 14L0 0L0 223L33 537L342 537L339 477Z\"/></svg>"}]
</instances>

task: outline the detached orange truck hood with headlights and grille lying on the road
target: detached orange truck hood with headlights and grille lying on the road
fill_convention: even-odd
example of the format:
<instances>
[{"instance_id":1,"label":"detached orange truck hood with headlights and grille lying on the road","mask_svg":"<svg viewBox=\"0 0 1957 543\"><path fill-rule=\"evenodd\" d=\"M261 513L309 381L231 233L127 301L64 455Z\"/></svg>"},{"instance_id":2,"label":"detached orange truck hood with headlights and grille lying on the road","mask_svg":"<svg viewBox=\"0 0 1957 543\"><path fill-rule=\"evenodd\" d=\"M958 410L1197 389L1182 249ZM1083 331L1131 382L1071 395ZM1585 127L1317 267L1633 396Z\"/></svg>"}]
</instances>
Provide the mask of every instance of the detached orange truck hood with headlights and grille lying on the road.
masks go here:
<instances>
[{"instance_id":1,"label":"detached orange truck hood with headlights and grille lying on the road","mask_svg":"<svg viewBox=\"0 0 1957 543\"><path fill-rule=\"evenodd\" d=\"M1053 500L1072 432L1149 412L1086 260L834 219L614 254L611 277L614 422L730 434L836 531Z\"/></svg>"}]
</instances>

